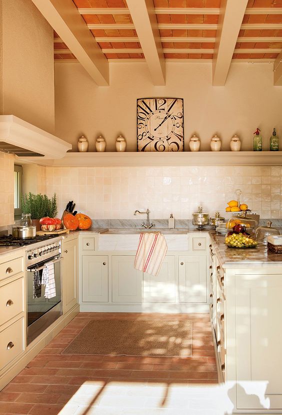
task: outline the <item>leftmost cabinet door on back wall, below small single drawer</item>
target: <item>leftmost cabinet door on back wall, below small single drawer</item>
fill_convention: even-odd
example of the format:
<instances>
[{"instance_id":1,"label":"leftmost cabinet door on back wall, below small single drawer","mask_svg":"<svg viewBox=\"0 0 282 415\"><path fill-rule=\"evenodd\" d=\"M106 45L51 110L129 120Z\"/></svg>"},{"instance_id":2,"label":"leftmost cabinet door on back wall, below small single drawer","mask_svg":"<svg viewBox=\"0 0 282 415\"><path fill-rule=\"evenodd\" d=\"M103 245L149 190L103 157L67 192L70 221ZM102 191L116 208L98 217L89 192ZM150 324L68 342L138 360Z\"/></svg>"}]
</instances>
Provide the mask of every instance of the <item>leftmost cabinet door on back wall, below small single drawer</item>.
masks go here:
<instances>
[{"instance_id":1,"label":"leftmost cabinet door on back wall, below small single drawer","mask_svg":"<svg viewBox=\"0 0 282 415\"><path fill-rule=\"evenodd\" d=\"M106 255L82 255L82 301L108 302Z\"/></svg>"}]
</instances>

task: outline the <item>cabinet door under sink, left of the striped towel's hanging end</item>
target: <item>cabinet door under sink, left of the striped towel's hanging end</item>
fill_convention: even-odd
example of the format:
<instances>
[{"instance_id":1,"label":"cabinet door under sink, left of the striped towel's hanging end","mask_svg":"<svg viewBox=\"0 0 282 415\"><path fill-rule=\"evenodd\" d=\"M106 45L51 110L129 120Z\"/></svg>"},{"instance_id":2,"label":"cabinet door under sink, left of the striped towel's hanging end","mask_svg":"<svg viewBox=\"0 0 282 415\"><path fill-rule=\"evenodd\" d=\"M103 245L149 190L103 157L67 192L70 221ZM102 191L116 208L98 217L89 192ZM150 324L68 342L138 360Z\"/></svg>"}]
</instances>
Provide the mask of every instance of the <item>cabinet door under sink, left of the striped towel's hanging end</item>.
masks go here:
<instances>
[{"instance_id":1,"label":"cabinet door under sink, left of the striped towel's hanging end","mask_svg":"<svg viewBox=\"0 0 282 415\"><path fill-rule=\"evenodd\" d=\"M134 260L134 255L112 256L112 302L142 302L143 273Z\"/></svg>"}]
</instances>

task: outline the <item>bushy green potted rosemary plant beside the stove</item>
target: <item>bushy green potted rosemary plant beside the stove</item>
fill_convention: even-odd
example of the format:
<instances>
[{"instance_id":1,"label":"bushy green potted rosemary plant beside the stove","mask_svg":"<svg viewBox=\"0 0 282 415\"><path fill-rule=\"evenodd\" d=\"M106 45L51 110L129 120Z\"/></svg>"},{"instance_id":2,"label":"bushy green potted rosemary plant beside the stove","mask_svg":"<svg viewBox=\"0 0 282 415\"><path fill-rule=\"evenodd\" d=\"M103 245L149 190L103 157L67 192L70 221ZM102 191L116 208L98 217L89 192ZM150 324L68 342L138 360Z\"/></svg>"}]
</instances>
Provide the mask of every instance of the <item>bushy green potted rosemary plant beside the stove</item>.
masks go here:
<instances>
[{"instance_id":1,"label":"bushy green potted rosemary plant beside the stove","mask_svg":"<svg viewBox=\"0 0 282 415\"><path fill-rule=\"evenodd\" d=\"M51 198L47 195L25 193L21 197L22 213L30 213L32 224L36 226L36 231L40 230L39 220L45 216L54 218L58 212L56 194Z\"/></svg>"}]
</instances>

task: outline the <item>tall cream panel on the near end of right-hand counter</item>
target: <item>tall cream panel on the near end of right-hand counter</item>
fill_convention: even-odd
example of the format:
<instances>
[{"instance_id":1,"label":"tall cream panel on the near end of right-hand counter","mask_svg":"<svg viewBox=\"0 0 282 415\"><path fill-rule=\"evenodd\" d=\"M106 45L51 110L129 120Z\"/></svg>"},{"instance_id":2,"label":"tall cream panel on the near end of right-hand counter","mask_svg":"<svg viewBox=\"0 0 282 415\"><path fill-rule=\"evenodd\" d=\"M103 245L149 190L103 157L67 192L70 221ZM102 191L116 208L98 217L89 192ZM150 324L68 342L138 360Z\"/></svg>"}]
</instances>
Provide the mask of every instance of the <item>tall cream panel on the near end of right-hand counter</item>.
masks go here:
<instances>
[{"instance_id":1,"label":"tall cream panel on the near end of right-hand counter","mask_svg":"<svg viewBox=\"0 0 282 415\"><path fill-rule=\"evenodd\" d=\"M281 409L282 275L236 275L235 284L237 407Z\"/></svg>"}]
</instances>

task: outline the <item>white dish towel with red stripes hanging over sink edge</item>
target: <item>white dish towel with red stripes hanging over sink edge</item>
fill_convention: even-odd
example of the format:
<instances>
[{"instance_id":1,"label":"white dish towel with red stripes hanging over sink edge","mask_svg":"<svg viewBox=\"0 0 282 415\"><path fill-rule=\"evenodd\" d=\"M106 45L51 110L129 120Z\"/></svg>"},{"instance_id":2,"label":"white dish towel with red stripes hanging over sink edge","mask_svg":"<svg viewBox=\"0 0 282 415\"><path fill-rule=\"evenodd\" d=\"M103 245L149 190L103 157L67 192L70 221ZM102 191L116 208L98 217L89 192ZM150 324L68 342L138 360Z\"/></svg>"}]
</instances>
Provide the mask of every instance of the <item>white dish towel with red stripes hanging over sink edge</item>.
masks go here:
<instances>
[{"instance_id":1,"label":"white dish towel with red stripes hanging over sink edge","mask_svg":"<svg viewBox=\"0 0 282 415\"><path fill-rule=\"evenodd\" d=\"M142 232L135 256L134 268L157 275L167 251L161 232Z\"/></svg>"}]
</instances>

